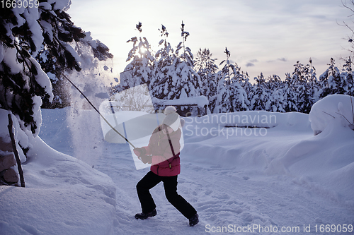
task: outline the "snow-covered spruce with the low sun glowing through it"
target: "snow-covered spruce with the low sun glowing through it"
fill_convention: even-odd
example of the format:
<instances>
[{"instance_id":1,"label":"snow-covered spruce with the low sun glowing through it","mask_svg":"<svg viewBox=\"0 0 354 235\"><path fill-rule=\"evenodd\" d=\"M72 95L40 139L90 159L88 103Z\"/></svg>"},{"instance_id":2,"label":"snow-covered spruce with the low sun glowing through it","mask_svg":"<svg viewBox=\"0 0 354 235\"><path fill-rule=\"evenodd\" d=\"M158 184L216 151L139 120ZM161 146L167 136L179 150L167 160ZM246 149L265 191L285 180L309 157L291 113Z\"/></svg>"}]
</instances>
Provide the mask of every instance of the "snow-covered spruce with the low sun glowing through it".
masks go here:
<instances>
[{"instance_id":1,"label":"snow-covered spruce with the low sun glowing through it","mask_svg":"<svg viewBox=\"0 0 354 235\"><path fill-rule=\"evenodd\" d=\"M139 22L136 29L141 33L142 23ZM120 81L120 90L133 88L144 83L149 85L155 61L146 37L132 37L127 42L132 42L133 47L127 57L130 64L125 67L124 71L130 73L131 76L129 80Z\"/></svg>"}]
</instances>

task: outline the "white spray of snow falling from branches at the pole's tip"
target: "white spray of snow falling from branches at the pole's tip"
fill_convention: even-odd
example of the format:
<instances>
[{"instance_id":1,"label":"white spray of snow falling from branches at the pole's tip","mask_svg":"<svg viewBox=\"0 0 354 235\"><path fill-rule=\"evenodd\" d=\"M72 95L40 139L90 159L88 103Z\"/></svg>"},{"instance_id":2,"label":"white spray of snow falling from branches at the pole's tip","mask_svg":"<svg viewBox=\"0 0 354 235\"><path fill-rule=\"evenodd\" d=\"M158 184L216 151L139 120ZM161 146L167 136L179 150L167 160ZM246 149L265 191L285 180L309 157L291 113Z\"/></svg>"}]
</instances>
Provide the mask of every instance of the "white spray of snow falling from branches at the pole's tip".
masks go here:
<instances>
[{"instance_id":1,"label":"white spray of snow falling from branches at the pole's tip","mask_svg":"<svg viewBox=\"0 0 354 235\"><path fill-rule=\"evenodd\" d=\"M73 156L92 166L97 163L104 150L100 118L96 115L98 112L96 107L109 97L107 84L111 76L108 70L98 69L101 67L97 64L86 66L80 73L72 72L70 76L64 75L64 78L69 81L68 84L71 84L67 86L67 93L70 94L67 123L72 134ZM97 79L98 77L100 79Z\"/></svg>"}]
</instances>

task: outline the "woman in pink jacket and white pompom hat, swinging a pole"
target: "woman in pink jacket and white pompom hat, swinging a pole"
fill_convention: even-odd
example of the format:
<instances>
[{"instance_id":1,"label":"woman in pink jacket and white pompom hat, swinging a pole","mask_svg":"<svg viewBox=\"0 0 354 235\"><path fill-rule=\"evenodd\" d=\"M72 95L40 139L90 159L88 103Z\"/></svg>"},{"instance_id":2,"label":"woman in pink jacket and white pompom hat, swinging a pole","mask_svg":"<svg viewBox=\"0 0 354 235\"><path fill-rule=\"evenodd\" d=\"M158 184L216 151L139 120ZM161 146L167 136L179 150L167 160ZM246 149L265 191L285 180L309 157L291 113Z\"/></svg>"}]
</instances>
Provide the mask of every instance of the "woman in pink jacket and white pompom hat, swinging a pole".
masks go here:
<instances>
[{"instance_id":1,"label":"woman in pink jacket and white pompom hat, swinging a pole","mask_svg":"<svg viewBox=\"0 0 354 235\"><path fill-rule=\"evenodd\" d=\"M156 215L156 205L149 190L157 183L164 182L165 195L169 203L189 219L189 225L198 224L198 214L181 195L177 193L177 176L181 172L180 139L184 120L174 107L166 107L166 117L150 137L149 145L134 149L135 155L144 163L152 164L150 171L137 183L137 195L142 205L142 213L136 219L147 219Z\"/></svg>"}]
</instances>

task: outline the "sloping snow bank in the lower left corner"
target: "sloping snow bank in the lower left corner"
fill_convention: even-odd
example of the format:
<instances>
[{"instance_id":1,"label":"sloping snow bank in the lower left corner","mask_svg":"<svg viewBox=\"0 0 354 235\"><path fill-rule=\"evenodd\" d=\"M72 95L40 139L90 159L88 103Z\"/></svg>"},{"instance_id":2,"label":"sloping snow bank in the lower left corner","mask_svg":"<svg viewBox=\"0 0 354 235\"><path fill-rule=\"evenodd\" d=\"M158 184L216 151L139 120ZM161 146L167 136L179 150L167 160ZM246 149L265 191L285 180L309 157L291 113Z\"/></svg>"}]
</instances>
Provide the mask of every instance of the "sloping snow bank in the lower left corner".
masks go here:
<instances>
[{"instance_id":1,"label":"sloping snow bank in the lower left corner","mask_svg":"<svg viewBox=\"0 0 354 235\"><path fill-rule=\"evenodd\" d=\"M107 175L37 137L23 164L26 188L0 186L0 234L113 234Z\"/></svg>"}]
</instances>

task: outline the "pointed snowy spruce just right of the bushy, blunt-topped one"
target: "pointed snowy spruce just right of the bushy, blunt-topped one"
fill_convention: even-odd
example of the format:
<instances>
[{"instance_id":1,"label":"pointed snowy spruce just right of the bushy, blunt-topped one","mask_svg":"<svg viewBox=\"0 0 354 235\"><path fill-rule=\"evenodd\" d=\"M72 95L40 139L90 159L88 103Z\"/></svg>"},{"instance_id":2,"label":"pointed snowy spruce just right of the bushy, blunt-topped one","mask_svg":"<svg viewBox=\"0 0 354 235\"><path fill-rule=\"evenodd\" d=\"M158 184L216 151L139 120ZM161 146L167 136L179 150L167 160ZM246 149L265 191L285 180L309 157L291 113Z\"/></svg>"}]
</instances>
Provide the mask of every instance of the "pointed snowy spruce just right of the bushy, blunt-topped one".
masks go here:
<instances>
[{"instance_id":1,"label":"pointed snowy spruce just right of the bushy, blunt-topped one","mask_svg":"<svg viewBox=\"0 0 354 235\"><path fill-rule=\"evenodd\" d=\"M240 68L237 64L230 64L229 56L231 53L227 48L224 53L227 55L227 59L220 63L220 66L225 64L222 71L219 71L215 112L224 113L248 110L249 100L247 100L247 94L240 84L240 81L243 79Z\"/></svg>"}]
</instances>

